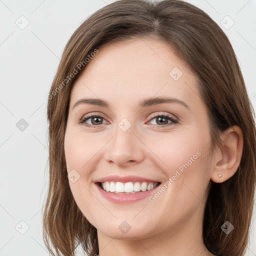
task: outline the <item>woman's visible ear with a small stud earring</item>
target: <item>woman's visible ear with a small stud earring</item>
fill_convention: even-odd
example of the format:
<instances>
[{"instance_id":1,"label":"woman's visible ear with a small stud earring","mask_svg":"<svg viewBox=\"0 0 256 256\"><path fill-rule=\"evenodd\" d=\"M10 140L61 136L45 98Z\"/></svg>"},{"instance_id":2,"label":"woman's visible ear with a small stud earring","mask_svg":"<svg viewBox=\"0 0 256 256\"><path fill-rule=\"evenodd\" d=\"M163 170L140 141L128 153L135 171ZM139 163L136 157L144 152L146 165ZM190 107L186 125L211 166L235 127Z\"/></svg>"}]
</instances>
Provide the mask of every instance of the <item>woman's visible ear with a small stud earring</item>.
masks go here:
<instances>
[{"instance_id":1,"label":"woman's visible ear with a small stud earring","mask_svg":"<svg viewBox=\"0 0 256 256\"><path fill-rule=\"evenodd\" d=\"M239 126L227 128L222 134L222 146L214 153L210 178L221 183L230 178L238 169L242 157L243 134ZM221 175L221 176L220 176Z\"/></svg>"}]
</instances>

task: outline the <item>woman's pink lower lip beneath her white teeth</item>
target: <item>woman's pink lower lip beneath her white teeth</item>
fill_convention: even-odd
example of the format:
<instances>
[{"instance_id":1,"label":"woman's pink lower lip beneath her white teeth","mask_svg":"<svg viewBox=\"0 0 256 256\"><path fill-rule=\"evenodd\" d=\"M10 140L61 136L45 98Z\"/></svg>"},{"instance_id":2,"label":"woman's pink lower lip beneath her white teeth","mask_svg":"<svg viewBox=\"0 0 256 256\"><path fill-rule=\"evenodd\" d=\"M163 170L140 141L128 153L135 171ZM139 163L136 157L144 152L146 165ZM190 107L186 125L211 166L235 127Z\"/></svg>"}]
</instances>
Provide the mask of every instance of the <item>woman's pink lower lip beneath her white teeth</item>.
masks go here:
<instances>
[{"instance_id":1,"label":"woman's pink lower lip beneath her white teeth","mask_svg":"<svg viewBox=\"0 0 256 256\"><path fill-rule=\"evenodd\" d=\"M95 184L101 195L106 198L107 200L115 203L130 203L135 202L138 200L142 200L146 197L148 197L150 194L155 192L155 190L158 188L158 186L154 187L153 189L146 190L146 191L140 191L135 192L132 194L116 194L113 192L107 192L104 189L100 188L99 185Z\"/></svg>"}]
</instances>

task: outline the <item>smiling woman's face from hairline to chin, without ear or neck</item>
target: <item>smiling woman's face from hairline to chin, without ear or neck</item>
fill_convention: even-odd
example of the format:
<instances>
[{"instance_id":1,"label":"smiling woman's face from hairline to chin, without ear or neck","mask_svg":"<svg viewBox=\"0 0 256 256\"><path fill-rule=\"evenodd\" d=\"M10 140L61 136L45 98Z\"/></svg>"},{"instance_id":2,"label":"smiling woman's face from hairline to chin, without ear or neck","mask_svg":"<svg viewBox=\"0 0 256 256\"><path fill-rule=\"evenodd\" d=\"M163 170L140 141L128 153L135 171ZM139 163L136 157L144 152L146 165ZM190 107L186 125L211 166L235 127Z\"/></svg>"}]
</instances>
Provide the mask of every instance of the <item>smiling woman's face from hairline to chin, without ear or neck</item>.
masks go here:
<instances>
[{"instance_id":1,"label":"smiling woman's face from hairline to chin, without ear or neck","mask_svg":"<svg viewBox=\"0 0 256 256\"><path fill-rule=\"evenodd\" d=\"M168 44L148 38L104 46L86 64L64 149L73 197L98 235L200 230L212 154L196 79Z\"/></svg>"}]
</instances>

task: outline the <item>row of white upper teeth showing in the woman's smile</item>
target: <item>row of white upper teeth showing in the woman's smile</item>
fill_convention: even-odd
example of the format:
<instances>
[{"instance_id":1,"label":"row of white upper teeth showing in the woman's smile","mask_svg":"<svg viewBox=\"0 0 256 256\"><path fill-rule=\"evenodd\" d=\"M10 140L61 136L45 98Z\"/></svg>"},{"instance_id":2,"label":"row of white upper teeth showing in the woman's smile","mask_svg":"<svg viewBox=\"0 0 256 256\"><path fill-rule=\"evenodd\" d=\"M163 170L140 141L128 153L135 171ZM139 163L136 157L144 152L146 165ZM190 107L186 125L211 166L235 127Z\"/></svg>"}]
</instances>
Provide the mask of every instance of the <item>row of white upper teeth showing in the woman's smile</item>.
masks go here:
<instances>
[{"instance_id":1,"label":"row of white upper teeth showing in the woman's smile","mask_svg":"<svg viewBox=\"0 0 256 256\"><path fill-rule=\"evenodd\" d=\"M107 192L115 193L134 193L139 191L151 190L157 186L157 182L101 182L101 187Z\"/></svg>"}]
</instances>

